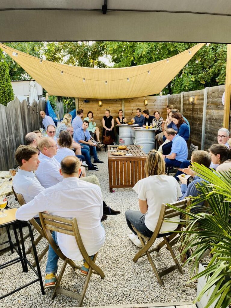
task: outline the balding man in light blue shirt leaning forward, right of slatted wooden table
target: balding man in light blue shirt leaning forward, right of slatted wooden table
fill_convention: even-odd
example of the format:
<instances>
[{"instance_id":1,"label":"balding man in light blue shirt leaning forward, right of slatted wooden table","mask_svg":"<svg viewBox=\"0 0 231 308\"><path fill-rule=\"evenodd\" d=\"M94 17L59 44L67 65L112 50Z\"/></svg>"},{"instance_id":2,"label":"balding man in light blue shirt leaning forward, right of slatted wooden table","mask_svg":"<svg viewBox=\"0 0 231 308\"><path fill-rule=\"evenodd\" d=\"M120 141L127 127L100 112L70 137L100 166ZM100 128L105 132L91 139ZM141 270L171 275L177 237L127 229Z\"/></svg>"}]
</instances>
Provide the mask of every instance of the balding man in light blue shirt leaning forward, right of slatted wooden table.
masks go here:
<instances>
[{"instance_id":1,"label":"balding man in light blue shirt leaning forward, right of slatted wooden table","mask_svg":"<svg viewBox=\"0 0 231 308\"><path fill-rule=\"evenodd\" d=\"M172 128L166 129L164 132L166 139L172 141L172 150L169 155L164 155L166 167L180 167L183 160L188 157L188 146L184 138L176 135Z\"/></svg>"}]
</instances>

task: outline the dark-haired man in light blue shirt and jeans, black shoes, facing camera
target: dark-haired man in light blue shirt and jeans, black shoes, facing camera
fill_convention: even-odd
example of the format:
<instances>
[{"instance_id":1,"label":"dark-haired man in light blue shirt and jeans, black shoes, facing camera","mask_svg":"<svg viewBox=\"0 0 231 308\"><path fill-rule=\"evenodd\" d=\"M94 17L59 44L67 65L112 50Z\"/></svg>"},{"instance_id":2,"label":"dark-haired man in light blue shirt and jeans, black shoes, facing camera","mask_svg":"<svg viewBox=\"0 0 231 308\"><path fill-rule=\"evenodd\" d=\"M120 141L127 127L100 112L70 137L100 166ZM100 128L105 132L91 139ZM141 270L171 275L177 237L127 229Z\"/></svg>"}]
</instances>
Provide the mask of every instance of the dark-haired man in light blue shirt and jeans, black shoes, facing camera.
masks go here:
<instances>
[{"instance_id":1,"label":"dark-haired man in light blue shirt and jeans, black shoes, facing camera","mask_svg":"<svg viewBox=\"0 0 231 308\"><path fill-rule=\"evenodd\" d=\"M97 152L96 152L96 144L91 142L91 135L90 135L89 131L87 130L88 125L89 125L89 122L87 120L84 120L82 127L76 129L74 136L73 136L73 139L77 143L81 144L81 146L83 146L84 149L88 150L89 154L90 154L90 150L93 151L94 164L95 163L98 163L98 164L103 163L103 161L100 161L98 159ZM88 170L91 170L91 171L97 171L98 170L98 168L96 168L97 170L94 170L94 169L95 169L94 166L90 167L90 168L88 166Z\"/></svg>"}]
</instances>

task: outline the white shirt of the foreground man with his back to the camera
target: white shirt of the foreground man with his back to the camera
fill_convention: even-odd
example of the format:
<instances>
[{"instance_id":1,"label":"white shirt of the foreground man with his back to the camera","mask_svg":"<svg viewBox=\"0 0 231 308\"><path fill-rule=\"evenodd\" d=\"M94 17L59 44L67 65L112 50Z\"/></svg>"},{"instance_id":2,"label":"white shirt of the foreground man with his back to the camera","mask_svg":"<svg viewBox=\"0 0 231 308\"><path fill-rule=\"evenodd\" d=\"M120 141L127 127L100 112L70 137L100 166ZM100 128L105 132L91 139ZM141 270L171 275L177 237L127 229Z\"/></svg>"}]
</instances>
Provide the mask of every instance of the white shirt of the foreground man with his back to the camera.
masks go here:
<instances>
[{"instance_id":1,"label":"white shirt of the foreground man with his back to the camera","mask_svg":"<svg viewBox=\"0 0 231 308\"><path fill-rule=\"evenodd\" d=\"M48 211L61 217L76 217L83 245L89 256L95 254L105 241L105 231L100 223L103 200L99 186L76 177L69 177L45 189L34 200L16 212L19 220L30 220L39 212ZM75 237L57 232L57 241L63 254L81 260Z\"/></svg>"}]
</instances>

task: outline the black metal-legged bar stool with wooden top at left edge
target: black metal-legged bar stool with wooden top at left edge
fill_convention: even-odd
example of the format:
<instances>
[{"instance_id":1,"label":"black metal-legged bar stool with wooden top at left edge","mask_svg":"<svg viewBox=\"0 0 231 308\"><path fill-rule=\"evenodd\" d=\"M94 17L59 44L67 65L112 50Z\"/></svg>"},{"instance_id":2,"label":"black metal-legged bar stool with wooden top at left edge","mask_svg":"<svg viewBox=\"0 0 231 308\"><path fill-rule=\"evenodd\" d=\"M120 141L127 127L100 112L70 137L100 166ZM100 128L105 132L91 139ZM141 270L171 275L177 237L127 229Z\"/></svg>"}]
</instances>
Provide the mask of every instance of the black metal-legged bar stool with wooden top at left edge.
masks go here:
<instances>
[{"instance_id":1,"label":"black metal-legged bar stool with wooden top at left edge","mask_svg":"<svg viewBox=\"0 0 231 308\"><path fill-rule=\"evenodd\" d=\"M5 298L6 296L8 295L11 295L19 290L22 290L23 288L27 287L27 286L30 286L31 284L35 283L35 282L40 282L40 287L41 287L41 292L42 294L44 295L45 294L45 291L44 291L44 287L43 287L43 278L42 278L42 275L41 275L41 271L40 271L40 266L39 266L39 260L38 260L38 255L37 255L37 251L36 251L36 247L35 247L35 244L34 244L34 236L33 236L33 232L32 232L32 229L31 229L31 225L28 221L24 221L24 223L27 224L28 226L28 229L29 229L29 234L30 234L30 240L31 240L31 244L32 244L32 248L33 248L33 252L34 252L34 259L35 259L35 263L36 263L36 267L37 267L37 271L34 269L34 267L30 264L30 262L27 260L26 258L26 251L25 251L25 245L24 245L24 239L23 239L23 234L22 234L22 225L21 225L21 221L17 220L15 218L15 213L16 213L17 209L16 208L12 208L12 209L6 209L5 210L5 213L7 214L6 217L0 217L0 228L2 227L6 227L6 230L7 230L7 235L8 235L8 241L5 241L3 243L1 243L0 245L2 244L6 244L6 243L9 243L10 244L10 249L11 249L11 253L14 252L14 250L18 253L18 257L17 258L14 258L13 260L10 260L10 261L7 261L3 264L0 264L0 270L10 266L10 265L13 265L15 263L18 263L18 262L21 262L22 264L22 271L23 272L28 272L28 266L30 266L30 268L33 270L33 272L36 274L36 276L38 278L34 279L33 281L5 294L5 295L2 295L0 297L0 299L2 298ZM15 240L16 240L16 245L17 245L17 248L16 246L14 245L14 243L12 242L11 240L11 237L10 237L10 231L9 231L9 226L12 225L13 227L13 230L14 230L14 236L15 236ZM20 240L21 240L21 245L22 245L22 250L21 250L21 247L20 247L20 244L19 244L19 240L18 240L18 234L17 234L17 230L16 230L16 225L17 227L19 228L19 234L20 234Z\"/></svg>"}]
</instances>

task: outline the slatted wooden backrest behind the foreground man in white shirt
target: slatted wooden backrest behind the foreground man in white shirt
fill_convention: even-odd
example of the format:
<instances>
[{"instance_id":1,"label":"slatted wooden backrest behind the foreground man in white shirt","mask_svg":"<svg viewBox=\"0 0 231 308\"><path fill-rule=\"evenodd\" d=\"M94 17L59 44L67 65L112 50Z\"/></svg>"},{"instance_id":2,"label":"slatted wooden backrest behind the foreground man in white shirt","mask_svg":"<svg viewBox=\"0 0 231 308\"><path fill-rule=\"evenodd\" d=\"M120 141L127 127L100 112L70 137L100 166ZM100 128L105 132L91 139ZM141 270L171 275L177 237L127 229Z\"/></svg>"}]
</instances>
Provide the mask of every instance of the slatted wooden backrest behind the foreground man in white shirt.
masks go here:
<instances>
[{"instance_id":1,"label":"slatted wooden backrest behind the foreground man in white shirt","mask_svg":"<svg viewBox=\"0 0 231 308\"><path fill-rule=\"evenodd\" d=\"M50 245L56 247L55 242L51 236L50 231L56 231L59 233L64 233L68 235L72 235L75 237L76 243L78 245L79 251L82 254L83 258L87 261L87 263L97 271L95 263L92 262L91 258L88 256L87 251L83 245L83 241L81 239L79 228L77 224L76 218L64 218L60 216L50 215L46 213L39 213L40 221L43 227L43 232L45 233L45 237ZM53 248L53 249L54 249Z\"/></svg>"}]
</instances>

